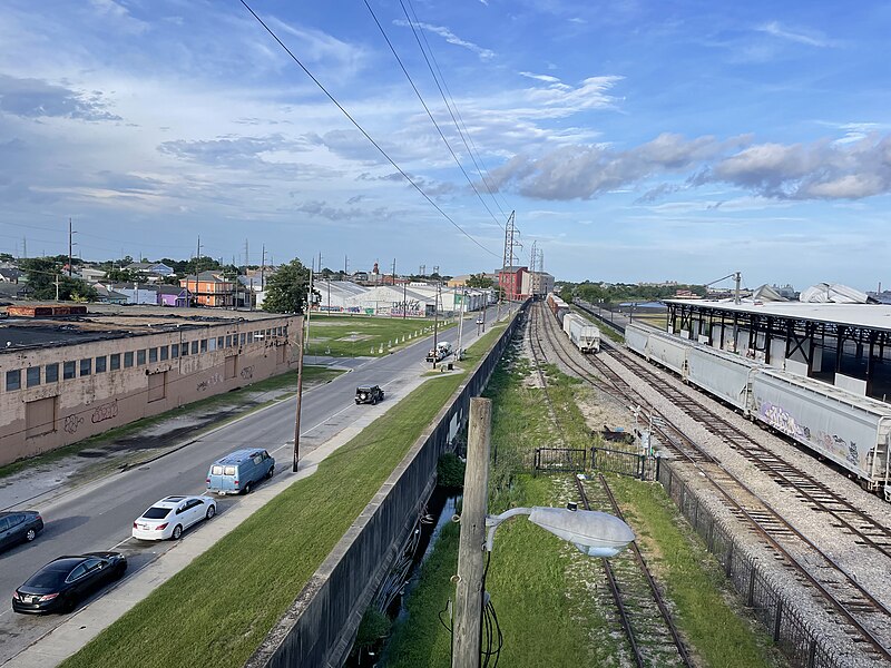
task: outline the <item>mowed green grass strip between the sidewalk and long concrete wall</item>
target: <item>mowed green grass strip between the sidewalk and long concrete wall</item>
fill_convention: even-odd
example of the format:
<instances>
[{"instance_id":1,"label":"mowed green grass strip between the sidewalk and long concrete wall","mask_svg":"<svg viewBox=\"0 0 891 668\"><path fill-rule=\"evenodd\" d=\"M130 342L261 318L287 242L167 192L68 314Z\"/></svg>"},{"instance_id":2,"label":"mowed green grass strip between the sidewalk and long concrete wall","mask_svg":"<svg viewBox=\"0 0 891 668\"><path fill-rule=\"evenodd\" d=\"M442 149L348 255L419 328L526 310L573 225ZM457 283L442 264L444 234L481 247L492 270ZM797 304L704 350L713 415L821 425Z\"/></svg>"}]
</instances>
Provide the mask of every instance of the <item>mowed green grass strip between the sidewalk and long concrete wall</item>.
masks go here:
<instances>
[{"instance_id":1,"label":"mowed green grass strip between the sidewalk and long concrete wall","mask_svg":"<svg viewBox=\"0 0 891 668\"><path fill-rule=\"evenodd\" d=\"M471 369L500 335L467 354ZM244 664L466 373L431 379L158 587L65 668ZM176 625L158 641L158 629Z\"/></svg>"}]
</instances>

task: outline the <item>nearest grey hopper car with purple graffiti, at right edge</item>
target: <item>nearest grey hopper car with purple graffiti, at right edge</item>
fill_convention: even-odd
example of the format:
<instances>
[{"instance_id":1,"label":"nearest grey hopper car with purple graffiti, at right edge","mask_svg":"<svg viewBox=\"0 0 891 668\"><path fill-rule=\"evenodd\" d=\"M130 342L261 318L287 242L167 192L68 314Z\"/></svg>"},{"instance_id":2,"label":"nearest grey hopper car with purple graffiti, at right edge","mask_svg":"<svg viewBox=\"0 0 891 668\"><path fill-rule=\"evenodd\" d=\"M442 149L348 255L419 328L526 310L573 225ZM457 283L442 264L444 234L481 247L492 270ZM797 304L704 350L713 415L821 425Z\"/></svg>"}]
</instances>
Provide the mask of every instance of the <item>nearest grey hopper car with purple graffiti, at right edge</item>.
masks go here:
<instances>
[{"instance_id":1,"label":"nearest grey hopper car with purple graffiti, at right edge","mask_svg":"<svg viewBox=\"0 0 891 668\"><path fill-rule=\"evenodd\" d=\"M889 483L891 406L812 379L761 370L752 383L756 420L856 474L863 487Z\"/></svg>"}]
</instances>

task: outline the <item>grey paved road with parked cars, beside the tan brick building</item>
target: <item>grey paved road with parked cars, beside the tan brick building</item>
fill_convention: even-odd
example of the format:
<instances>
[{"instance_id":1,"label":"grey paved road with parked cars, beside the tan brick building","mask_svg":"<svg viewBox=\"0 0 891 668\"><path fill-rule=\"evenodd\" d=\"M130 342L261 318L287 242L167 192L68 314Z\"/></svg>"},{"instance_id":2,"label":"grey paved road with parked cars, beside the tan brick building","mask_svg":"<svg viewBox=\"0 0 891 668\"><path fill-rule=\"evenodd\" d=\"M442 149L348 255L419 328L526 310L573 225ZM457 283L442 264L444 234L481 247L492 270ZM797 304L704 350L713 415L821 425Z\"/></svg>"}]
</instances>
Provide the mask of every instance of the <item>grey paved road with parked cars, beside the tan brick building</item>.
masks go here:
<instances>
[{"instance_id":1,"label":"grey paved road with parked cars, beside the tan brick building","mask_svg":"<svg viewBox=\"0 0 891 668\"><path fill-rule=\"evenodd\" d=\"M489 308L487 324L493 317L495 308ZM472 320L464 322L463 347L477 338L478 330L483 328L472 323ZM457 337L457 327L439 336L452 344ZM301 414L301 452L324 443L368 409L355 405L353 401L356 385L376 383L384 387L385 401L401 399L402 382L430 370L430 364L423 361L430 345L431 338L420 340L392 355L369 360L351 373L306 393ZM43 532L35 542L0 554L0 592L11 597L16 587L37 568L60 554L115 549L127 554L130 572L144 568L169 549L170 543L133 540L133 520L163 497L203 492L207 468L214 460L238 448L263 446L276 460L276 477L292 474L294 412L295 402L286 401L249 413L153 463L88 483L40 505L46 521ZM238 503L236 497L219 499L218 512L224 514L235 503ZM188 540L189 532L200 530L198 524L186 532L183 540ZM59 616L16 615L10 600L7 598L0 611L0 664L61 621Z\"/></svg>"}]
</instances>

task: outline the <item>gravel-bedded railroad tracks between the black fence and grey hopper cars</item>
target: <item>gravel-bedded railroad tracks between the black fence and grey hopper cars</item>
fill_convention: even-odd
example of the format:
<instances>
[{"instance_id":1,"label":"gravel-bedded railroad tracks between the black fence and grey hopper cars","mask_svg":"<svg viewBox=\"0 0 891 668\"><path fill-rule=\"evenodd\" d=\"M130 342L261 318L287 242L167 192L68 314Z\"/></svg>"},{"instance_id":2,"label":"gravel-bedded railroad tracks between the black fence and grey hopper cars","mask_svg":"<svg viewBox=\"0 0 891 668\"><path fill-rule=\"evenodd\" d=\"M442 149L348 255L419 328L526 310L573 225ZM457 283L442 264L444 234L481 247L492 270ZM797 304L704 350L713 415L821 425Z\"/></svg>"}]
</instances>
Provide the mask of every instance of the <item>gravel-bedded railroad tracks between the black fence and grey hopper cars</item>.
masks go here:
<instances>
[{"instance_id":1,"label":"gravel-bedded railroad tracks between the black fence and grey hopper cars","mask_svg":"<svg viewBox=\"0 0 891 668\"><path fill-rule=\"evenodd\" d=\"M539 308L541 307L539 306ZM554 345L554 350L560 356L561 362L572 370L580 370L578 372L579 375L586 380L589 380L593 375L593 366L607 380L606 382L609 384L614 395L618 394L630 405L639 405L650 413L653 429L658 434L662 444L682 461L695 466L705 477L719 493L722 501L731 512L750 528L766 549L770 549L779 559L783 560L784 567L803 587L814 592L814 601L838 622L840 628L844 630L865 656L880 661L891 661L891 611L860 586L854 577L790 524L781 513L771 508L743 481L726 470L719 461L715 460L693 439L673 425L665 415L656 411L643 395L633 390L604 360L586 355L584 356L586 362L580 362L580 353L565 340L562 333L558 333L557 336L554 335L556 330L555 318L539 318L538 322L545 324L546 337ZM548 332L549 330L550 332ZM619 355L614 350L609 350L607 354L611 355L614 360L626 364L634 373L650 382L657 392L662 392L665 389L664 395L667 399L701 422L706 429L711 426L709 423L714 420L721 430L715 433L725 440L733 434L738 434L737 438L741 440L744 438L748 443L754 443L752 439L742 431L736 430L730 422L716 415L706 406L702 406L695 399L678 391L665 379L643 364L636 361L628 362L627 355ZM604 381L598 380L595 384L601 387ZM861 538L871 548L882 549L884 542L880 538L881 533L879 533L877 540L873 528L878 527L881 532L887 533L884 528L875 524L864 513L859 513L863 515L864 520L868 520L870 525L866 532L861 532L852 524L851 518L859 511L853 509L850 503L844 502L842 504L841 501L843 500L838 499L838 495L826 494L828 503L820 505L821 493L817 493L817 491L825 490L825 485L795 471L793 466L782 462L780 458L758 444L754 443L754 445L757 448L741 445L738 450L743 454L752 453L752 458L755 456L755 453L763 451L765 453L764 458L758 460L756 464L758 469L784 471L784 482L795 489L796 493L801 493L802 498L816 504L817 510L829 513L842 527ZM773 460L776 461L776 464L771 468L768 464Z\"/></svg>"}]
</instances>

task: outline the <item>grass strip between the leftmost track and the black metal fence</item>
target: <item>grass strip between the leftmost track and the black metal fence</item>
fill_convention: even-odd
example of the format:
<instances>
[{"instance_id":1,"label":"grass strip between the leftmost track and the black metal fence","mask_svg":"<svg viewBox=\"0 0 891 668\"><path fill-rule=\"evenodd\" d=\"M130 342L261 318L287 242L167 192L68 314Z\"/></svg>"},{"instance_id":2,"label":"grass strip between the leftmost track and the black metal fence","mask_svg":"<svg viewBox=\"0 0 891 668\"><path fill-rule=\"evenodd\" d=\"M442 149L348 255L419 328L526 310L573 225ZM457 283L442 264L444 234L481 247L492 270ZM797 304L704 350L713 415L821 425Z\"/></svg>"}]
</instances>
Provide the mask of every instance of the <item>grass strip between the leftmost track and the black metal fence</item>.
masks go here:
<instances>
[{"instance_id":1,"label":"grass strip between the leftmost track and the black metal fence","mask_svg":"<svg viewBox=\"0 0 891 668\"><path fill-rule=\"evenodd\" d=\"M706 666L747 668L781 666L785 660L757 622L736 612L736 596L721 564L677 512L658 484L624 478L609 482L646 551L650 568L665 584L676 621Z\"/></svg>"}]
</instances>

